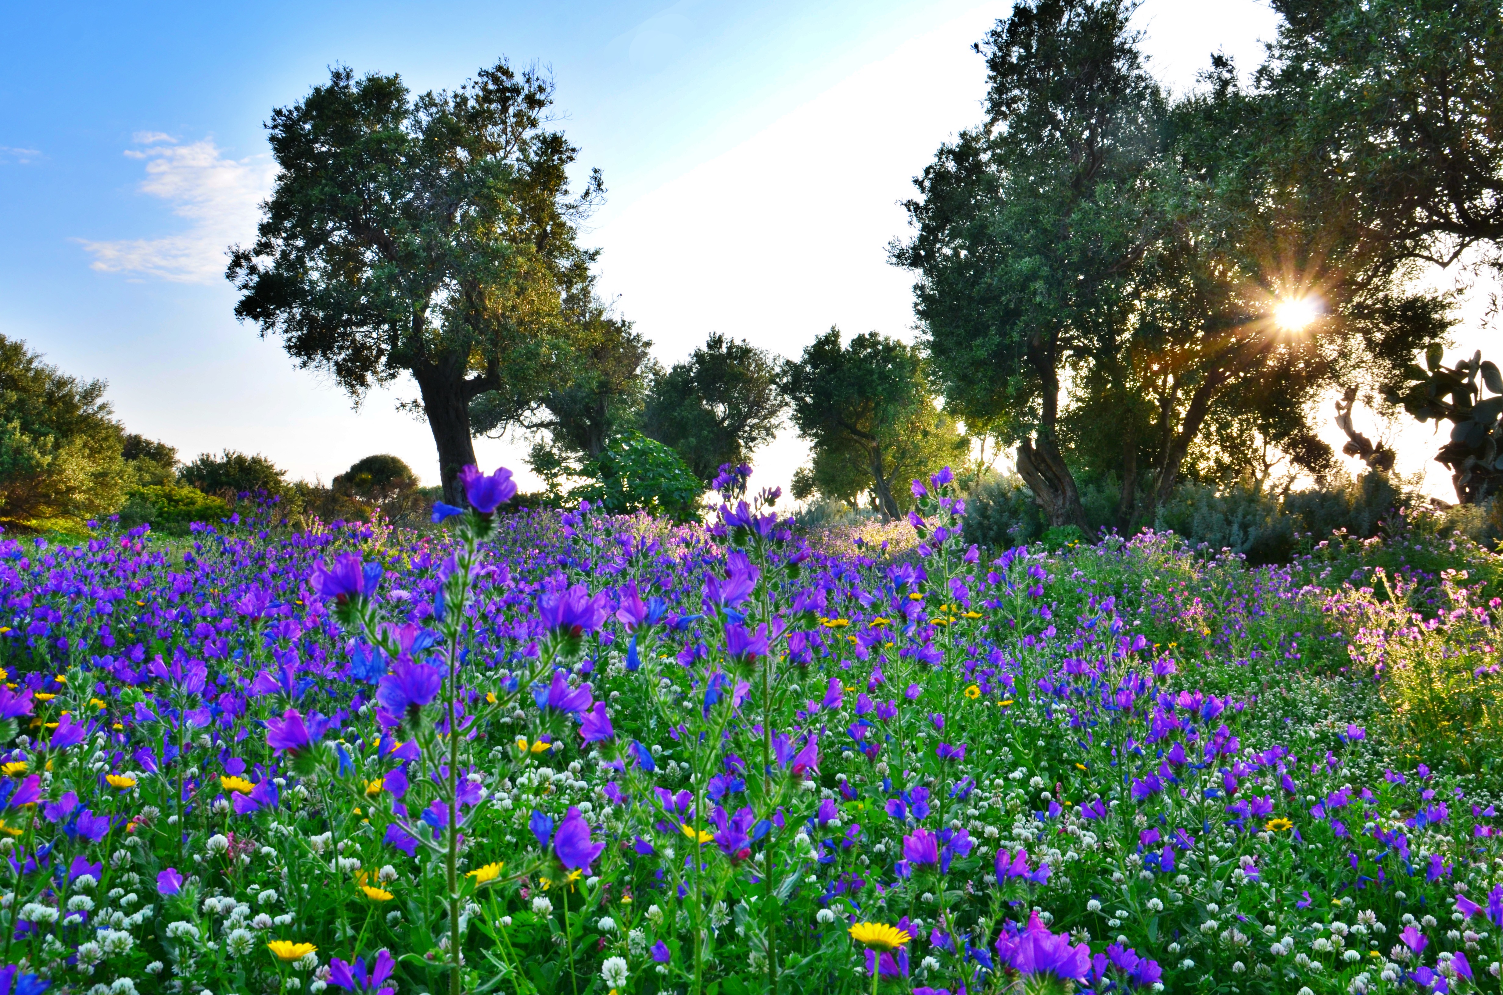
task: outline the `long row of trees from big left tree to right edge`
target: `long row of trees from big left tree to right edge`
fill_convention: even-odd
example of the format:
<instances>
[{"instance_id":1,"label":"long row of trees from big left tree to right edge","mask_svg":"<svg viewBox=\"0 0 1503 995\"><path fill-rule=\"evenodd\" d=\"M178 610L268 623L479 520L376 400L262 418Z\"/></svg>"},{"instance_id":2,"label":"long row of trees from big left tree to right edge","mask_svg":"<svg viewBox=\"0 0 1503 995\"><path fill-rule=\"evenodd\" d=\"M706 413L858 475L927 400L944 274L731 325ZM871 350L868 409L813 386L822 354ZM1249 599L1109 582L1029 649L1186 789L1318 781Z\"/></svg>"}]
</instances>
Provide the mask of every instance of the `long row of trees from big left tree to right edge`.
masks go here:
<instances>
[{"instance_id":1,"label":"long row of trees from big left tree to right edge","mask_svg":"<svg viewBox=\"0 0 1503 995\"><path fill-rule=\"evenodd\" d=\"M658 368L580 243L603 176L571 188L552 81L505 60L424 95L338 68L274 110L236 314L355 397L410 374L451 502L475 434L523 433L553 493L688 514L786 416L812 448L795 496L893 517L909 478L975 455L980 479L1012 449L1049 528L1130 532L1184 487L1335 479L1318 421L1341 395L1375 473L1392 452L1354 412L1447 422L1437 458L1483 505L1503 380L1443 362L1456 295L1417 277L1503 271L1500 0L1273 6L1250 77L1214 56L1177 95L1129 0L1019 0L974 47L981 120L890 250L915 344L831 331L779 359L711 337Z\"/></svg>"}]
</instances>

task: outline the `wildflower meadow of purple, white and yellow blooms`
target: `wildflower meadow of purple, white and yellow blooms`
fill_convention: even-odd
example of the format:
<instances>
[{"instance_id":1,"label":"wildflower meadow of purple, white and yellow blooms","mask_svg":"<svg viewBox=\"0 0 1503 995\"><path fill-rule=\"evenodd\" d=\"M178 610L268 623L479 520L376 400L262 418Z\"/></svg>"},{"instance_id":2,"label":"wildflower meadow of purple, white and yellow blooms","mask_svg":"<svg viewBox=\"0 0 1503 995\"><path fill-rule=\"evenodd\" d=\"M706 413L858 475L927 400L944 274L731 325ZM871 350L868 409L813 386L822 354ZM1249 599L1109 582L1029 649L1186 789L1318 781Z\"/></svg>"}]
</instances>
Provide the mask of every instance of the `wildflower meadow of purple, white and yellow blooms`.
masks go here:
<instances>
[{"instance_id":1,"label":"wildflower meadow of purple, white and yellow blooms","mask_svg":"<svg viewBox=\"0 0 1503 995\"><path fill-rule=\"evenodd\" d=\"M1498 989L1483 550L466 490L0 543L0 995Z\"/></svg>"}]
</instances>

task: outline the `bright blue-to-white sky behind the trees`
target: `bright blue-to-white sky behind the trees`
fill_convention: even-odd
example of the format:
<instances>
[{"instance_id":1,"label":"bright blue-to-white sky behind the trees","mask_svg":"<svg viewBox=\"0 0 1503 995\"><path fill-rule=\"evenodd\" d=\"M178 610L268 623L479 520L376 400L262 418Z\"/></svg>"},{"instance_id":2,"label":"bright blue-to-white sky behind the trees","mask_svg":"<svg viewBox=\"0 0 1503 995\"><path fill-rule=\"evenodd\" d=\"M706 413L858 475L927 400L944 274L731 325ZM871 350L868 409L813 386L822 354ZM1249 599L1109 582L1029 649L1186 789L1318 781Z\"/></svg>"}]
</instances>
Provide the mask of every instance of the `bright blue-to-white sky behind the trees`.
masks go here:
<instances>
[{"instance_id":1,"label":"bright blue-to-white sky behind the trees","mask_svg":"<svg viewBox=\"0 0 1503 995\"><path fill-rule=\"evenodd\" d=\"M331 66L452 89L505 56L553 74L559 126L609 197L585 243L600 290L664 364L711 331L797 356L830 326L914 335L911 278L887 263L900 201L941 143L980 119L971 44L1009 3L8 5L0 59L0 334L110 382L131 430L183 458L262 452L328 482L392 452L425 482L410 382L359 406L233 317L225 248L254 237L275 167L263 123ZM1150 65L1184 90L1213 51L1250 69L1276 15L1255 0L1145 0ZM1449 275L1437 275L1449 280ZM1483 296L1461 344L1495 334ZM1362 416L1359 415L1359 422ZM1371 418L1369 434L1381 427ZM1339 445L1341 436L1330 430ZM1390 430L1399 469L1438 445ZM519 470L526 445L476 442ZM786 487L807 449L759 454ZM1426 485L1449 496L1431 464Z\"/></svg>"}]
</instances>

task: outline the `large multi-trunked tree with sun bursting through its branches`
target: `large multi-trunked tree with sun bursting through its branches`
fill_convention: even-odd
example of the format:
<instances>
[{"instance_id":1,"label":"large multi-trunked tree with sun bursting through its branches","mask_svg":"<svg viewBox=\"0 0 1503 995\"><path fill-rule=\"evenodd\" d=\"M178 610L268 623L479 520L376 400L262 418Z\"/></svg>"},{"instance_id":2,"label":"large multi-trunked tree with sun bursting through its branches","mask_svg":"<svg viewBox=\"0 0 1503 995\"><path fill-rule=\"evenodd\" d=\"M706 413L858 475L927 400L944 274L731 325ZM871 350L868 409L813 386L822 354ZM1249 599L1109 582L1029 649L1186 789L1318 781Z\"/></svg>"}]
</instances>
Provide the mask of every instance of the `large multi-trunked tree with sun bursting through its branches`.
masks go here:
<instances>
[{"instance_id":1,"label":"large multi-trunked tree with sun bursting through its branches","mask_svg":"<svg viewBox=\"0 0 1503 995\"><path fill-rule=\"evenodd\" d=\"M1314 403L1447 322L1444 299L1357 275L1360 245L1273 152L1276 101L1223 59L1169 99L1130 14L1015 5L977 47L987 117L915 180L893 250L947 406L1016 442L1052 525L1084 528L1078 473L1118 481L1124 531L1270 446L1329 467Z\"/></svg>"}]
</instances>

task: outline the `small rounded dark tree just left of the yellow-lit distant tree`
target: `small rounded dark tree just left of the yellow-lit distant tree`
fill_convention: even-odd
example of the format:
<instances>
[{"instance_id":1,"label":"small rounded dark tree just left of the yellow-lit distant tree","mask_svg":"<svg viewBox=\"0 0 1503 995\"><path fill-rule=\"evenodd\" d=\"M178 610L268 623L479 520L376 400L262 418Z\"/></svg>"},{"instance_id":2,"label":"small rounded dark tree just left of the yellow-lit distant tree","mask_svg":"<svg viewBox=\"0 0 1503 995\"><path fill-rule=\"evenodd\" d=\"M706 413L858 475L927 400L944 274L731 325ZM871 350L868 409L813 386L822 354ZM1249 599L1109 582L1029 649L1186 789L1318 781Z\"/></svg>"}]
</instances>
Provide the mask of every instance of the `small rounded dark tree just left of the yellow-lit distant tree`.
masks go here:
<instances>
[{"instance_id":1,"label":"small rounded dark tree just left of the yellow-lit distant tree","mask_svg":"<svg viewBox=\"0 0 1503 995\"><path fill-rule=\"evenodd\" d=\"M687 362L652 379L642 431L673 446L706 484L720 466L750 463L788 410L779 362L752 343L711 332Z\"/></svg>"}]
</instances>

